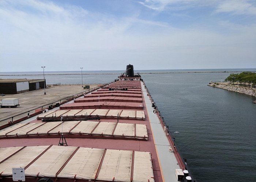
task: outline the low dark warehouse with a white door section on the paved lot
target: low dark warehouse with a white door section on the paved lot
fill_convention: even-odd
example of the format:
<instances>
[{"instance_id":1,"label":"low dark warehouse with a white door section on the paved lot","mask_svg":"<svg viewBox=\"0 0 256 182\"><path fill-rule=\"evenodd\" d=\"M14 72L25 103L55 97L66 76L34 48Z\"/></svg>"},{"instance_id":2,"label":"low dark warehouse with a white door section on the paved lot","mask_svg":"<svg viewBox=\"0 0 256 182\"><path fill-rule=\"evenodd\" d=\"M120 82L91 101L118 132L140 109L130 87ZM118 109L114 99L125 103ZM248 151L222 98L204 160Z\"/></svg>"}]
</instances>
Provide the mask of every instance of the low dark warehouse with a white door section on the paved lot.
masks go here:
<instances>
[{"instance_id":1,"label":"low dark warehouse with a white door section on the paved lot","mask_svg":"<svg viewBox=\"0 0 256 182\"><path fill-rule=\"evenodd\" d=\"M0 79L0 94L19 94L44 88L44 79ZM45 85L46 87L46 85Z\"/></svg>"}]
</instances>

